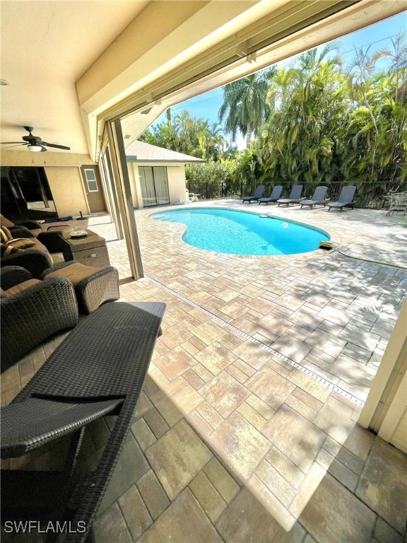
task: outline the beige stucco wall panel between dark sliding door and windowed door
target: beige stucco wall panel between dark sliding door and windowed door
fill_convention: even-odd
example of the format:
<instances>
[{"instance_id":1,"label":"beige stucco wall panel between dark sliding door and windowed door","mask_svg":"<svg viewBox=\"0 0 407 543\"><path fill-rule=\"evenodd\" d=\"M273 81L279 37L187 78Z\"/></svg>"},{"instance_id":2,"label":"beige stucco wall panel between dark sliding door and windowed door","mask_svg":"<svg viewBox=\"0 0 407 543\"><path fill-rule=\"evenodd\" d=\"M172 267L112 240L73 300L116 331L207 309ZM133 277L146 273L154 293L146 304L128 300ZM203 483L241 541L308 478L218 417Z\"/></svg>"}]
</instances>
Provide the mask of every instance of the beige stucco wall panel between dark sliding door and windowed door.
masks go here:
<instances>
[{"instance_id":1,"label":"beige stucco wall panel between dark sliding door and windowed door","mask_svg":"<svg viewBox=\"0 0 407 543\"><path fill-rule=\"evenodd\" d=\"M46 167L45 174L58 216L78 216L79 211L84 215L89 213L79 168Z\"/></svg>"}]
</instances>

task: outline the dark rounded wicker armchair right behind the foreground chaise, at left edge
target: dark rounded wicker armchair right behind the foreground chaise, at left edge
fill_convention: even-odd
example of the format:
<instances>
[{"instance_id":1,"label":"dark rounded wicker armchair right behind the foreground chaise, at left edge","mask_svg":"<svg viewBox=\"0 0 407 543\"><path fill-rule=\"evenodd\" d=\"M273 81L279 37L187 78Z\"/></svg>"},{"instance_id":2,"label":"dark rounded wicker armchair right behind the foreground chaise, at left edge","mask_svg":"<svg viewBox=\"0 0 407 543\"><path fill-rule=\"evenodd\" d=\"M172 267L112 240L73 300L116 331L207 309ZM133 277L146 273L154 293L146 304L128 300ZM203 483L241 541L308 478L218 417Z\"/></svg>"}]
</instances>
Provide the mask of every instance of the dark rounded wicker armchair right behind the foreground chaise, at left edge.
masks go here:
<instances>
[{"instance_id":1,"label":"dark rounded wicker armchair right behind the foreground chaise, at left edge","mask_svg":"<svg viewBox=\"0 0 407 543\"><path fill-rule=\"evenodd\" d=\"M39 281L21 267L1 276L1 372L55 332L78 323L78 304L68 279Z\"/></svg>"}]
</instances>

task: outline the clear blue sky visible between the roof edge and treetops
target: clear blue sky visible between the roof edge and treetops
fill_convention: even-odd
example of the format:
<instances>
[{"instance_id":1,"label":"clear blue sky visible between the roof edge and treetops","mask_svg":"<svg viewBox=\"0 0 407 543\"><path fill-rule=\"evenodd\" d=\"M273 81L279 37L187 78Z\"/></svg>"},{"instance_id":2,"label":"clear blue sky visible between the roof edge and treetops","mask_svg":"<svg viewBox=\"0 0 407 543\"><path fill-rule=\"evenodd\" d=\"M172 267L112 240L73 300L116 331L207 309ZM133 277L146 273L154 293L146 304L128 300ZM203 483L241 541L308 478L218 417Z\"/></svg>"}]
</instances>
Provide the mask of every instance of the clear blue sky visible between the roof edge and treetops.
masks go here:
<instances>
[{"instance_id":1,"label":"clear blue sky visible between the roof edge and treetops","mask_svg":"<svg viewBox=\"0 0 407 543\"><path fill-rule=\"evenodd\" d=\"M396 37L399 33L407 32L407 12L400 13L394 17L390 17L376 23L375 25L362 28L351 34L341 37L336 42L341 44L341 52L343 58L347 62L351 62L355 56L355 49L363 47L364 49L370 46L370 53L376 52L379 49L391 47L391 37ZM285 61L287 62L287 61ZM172 116L187 110L191 117L208 119L209 122L218 122L218 111L223 101L222 88L213 89L195 98L190 98L177 105L171 107ZM154 124L163 122L165 114L158 117ZM237 146L243 148L243 139L237 140Z\"/></svg>"}]
</instances>

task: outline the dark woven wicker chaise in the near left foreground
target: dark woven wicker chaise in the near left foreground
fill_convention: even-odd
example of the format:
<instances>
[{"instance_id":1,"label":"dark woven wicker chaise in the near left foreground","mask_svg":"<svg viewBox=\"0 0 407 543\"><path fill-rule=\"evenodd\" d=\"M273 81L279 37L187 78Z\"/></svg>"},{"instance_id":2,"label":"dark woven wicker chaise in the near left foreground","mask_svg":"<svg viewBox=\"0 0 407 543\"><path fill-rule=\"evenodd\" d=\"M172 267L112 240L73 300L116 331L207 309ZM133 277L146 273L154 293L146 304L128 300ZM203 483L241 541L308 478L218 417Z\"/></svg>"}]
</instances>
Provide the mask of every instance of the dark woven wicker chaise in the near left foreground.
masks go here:
<instances>
[{"instance_id":1,"label":"dark woven wicker chaise in the near left foreground","mask_svg":"<svg viewBox=\"0 0 407 543\"><path fill-rule=\"evenodd\" d=\"M79 322L16 399L1 408L3 458L71 435L62 471L2 470L2 523L42 520L63 527L47 532L49 541L93 540L93 520L129 431L164 311L165 304L158 302L100 306ZM117 419L98 466L78 472L84 427L107 414Z\"/></svg>"}]
</instances>

